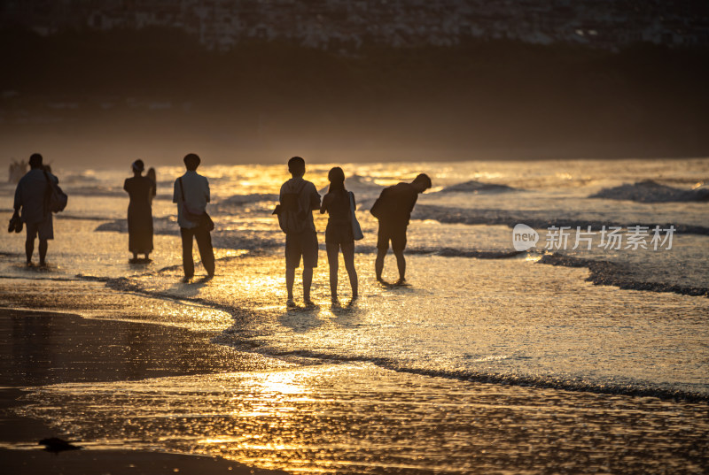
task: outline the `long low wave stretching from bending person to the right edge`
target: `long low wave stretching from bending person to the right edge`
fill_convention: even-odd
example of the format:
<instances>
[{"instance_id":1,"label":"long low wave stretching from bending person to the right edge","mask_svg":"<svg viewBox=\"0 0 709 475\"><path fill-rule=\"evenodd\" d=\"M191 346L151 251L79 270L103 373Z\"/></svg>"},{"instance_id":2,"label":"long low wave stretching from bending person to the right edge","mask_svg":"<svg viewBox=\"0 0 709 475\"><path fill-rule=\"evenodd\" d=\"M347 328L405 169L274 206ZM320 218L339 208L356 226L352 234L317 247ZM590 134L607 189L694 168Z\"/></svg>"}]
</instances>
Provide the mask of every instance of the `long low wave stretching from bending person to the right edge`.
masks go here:
<instances>
[{"instance_id":1,"label":"long low wave stretching from bending person to the right edge","mask_svg":"<svg viewBox=\"0 0 709 475\"><path fill-rule=\"evenodd\" d=\"M491 225L514 227L519 223L535 229L547 229L550 226L570 226L575 229L580 226L586 229L591 226L593 229L601 229L601 226L625 227L627 223L612 223L608 221L594 221L588 219L574 218L551 218L545 214L546 211L509 211L509 210L489 210L470 208L450 208L435 204L417 204L411 218L433 219L445 224L464 225ZM633 223L633 226L648 226L651 229L655 226L667 228L674 226L676 233L682 234L702 234L709 235L709 227L683 225L677 223Z\"/></svg>"}]
</instances>

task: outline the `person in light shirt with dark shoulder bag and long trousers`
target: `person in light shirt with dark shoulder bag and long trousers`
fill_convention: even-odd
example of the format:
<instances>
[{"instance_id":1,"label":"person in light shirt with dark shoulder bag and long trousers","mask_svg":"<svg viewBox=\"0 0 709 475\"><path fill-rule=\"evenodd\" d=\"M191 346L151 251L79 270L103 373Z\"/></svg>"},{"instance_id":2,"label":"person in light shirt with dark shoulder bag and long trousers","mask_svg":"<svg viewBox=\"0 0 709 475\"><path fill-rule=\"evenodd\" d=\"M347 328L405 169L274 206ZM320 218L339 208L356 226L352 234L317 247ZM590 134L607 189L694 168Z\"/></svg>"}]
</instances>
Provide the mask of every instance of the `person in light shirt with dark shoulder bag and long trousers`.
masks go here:
<instances>
[{"instance_id":1,"label":"person in light shirt with dark shoulder bag and long trousers","mask_svg":"<svg viewBox=\"0 0 709 475\"><path fill-rule=\"evenodd\" d=\"M205 222L199 218L199 215L204 215L206 203L209 203L209 182L206 177L197 173L200 162L201 160L194 153L184 157L187 172L175 180L172 198L173 203L177 203L177 223L180 225L183 239L184 282L189 282L194 277L192 237L197 240L199 257L202 259L208 277L210 279L214 277L212 235Z\"/></svg>"}]
</instances>

